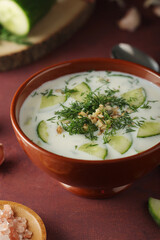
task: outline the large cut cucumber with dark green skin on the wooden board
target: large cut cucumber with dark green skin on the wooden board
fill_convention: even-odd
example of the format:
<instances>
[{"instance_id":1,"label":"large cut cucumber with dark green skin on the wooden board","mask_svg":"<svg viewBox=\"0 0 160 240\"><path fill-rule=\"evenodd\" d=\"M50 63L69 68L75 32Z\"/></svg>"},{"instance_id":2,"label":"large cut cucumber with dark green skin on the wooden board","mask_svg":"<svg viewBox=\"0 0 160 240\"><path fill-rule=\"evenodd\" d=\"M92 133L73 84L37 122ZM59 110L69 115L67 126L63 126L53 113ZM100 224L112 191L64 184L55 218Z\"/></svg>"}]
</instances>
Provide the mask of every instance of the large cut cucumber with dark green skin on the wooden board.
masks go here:
<instances>
[{"instance_id":1,"label":"large cut cucumber with dark green skin on the wooden board","mask_svg":"<svg viewBox=\"0 0 160 240\"><path fill-rule=\"evenodd\" d=\"M55 0L0 1L0 24L16 35L26 35L51 8Z\"/></svg>"}]
</instances>

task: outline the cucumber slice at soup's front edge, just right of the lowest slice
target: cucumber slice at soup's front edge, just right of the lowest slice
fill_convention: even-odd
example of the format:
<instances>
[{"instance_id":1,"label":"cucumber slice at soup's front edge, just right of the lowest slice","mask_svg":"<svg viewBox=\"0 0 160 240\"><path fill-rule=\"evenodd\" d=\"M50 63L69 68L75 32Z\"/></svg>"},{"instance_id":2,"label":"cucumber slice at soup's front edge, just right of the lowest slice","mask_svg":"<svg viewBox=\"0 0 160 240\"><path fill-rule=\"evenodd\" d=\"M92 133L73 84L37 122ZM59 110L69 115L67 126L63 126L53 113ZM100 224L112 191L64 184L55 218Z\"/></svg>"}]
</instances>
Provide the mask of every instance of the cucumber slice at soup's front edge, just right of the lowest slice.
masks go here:
<instances>
[{"instance_id":1,"label":"cucumber slice at soup's front edge, just right of the lowest slice","mask_svg":"<svg viewBox=\"0 0 160 240\"><path fill-rule=\"evenodd\" d=\"M108 144L117 152L124 154L131 147L132 141L125 136L112 136Z\"/></svg>"}]
</instances>

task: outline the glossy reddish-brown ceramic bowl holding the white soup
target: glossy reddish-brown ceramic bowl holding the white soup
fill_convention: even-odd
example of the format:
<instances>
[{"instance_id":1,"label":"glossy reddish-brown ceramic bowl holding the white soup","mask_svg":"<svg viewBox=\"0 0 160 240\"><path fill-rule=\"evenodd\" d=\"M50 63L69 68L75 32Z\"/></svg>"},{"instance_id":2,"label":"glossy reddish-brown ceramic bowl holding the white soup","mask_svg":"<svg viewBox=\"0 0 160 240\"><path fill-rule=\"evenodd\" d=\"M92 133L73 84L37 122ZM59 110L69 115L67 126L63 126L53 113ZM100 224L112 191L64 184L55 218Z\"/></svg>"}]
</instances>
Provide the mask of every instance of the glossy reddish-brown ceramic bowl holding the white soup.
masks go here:
<instances>
[{"instance_id":1,"label":"glossy reddish-brown ceramic bowl holding the white soup","mask_svg":"<svg viewBox=\"0 0 160 240\"><path fill-rule=\"evenodd\" d=\"M26 80L11 104L17 139L29 158L69 191L90 198L110 197L124 190L160 163L160 143L130 157L112 160L77 160L48 152L34 144L19 127L19 112L27 96L42 83L88 70L113 70L137 75L160 86L160 75L140 65L115 59L80 59L48 67Z\"/></svg>"}]
</instances>

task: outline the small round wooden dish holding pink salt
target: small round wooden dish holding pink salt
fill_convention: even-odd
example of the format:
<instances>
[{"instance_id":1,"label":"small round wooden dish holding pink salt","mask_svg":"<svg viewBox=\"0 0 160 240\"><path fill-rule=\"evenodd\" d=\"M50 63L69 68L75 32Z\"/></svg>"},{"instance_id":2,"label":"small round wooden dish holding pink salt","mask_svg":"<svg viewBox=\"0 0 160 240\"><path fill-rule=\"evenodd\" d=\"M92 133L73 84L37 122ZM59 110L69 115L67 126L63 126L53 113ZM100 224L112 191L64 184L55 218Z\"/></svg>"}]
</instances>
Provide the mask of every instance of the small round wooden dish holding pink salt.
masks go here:
<instances>
[{"instance_id":1,"label":"small round wooden dish holding pink salt","mask_svg":"<svg viewBox=\"0 0 160 240\"><path fill-rule=\"evenodd\" d=\"M46 240L46 228L42 219L32 209L16 202L0 200L0 209L5 204L9 204L14 212L14 216L24 217L28 221L28 230L33 233L32 240Z\"/></svg>"}]
</instances>

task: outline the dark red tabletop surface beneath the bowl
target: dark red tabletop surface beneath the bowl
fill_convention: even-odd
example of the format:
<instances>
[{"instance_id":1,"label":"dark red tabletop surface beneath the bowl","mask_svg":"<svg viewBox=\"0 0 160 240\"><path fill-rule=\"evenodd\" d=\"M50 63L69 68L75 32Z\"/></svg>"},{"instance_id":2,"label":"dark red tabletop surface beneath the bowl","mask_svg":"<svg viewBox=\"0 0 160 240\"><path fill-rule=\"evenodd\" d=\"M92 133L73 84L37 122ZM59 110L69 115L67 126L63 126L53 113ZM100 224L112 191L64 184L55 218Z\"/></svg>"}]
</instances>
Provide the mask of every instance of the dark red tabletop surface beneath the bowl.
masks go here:
<instances>
[{"instance_id":1,"label":"dark red tabletop surface beneath the bowl","mask_svg":"<svg viewBox=\"0 0 160 240\"><path fill-rule=\"evenodd\" d=\"M140 7L141 1L136 2ZM15 91L31 74L48 65L81 57L109 57L111 47L118 42L133 44L160 64L160 20L149 10L143 11L141 27L128 33L116 26L122 14L115 3L99 0L90 20L63 46L35 64L0 73L0 142L6 155L0 167L0 199L16 201L36 211L44 220L48 240L160 239L160 229L147 210L148 197L160 199L160 167L114 198L80 198L31 163L10 122Z\"/></svg>"}]
</instances>

